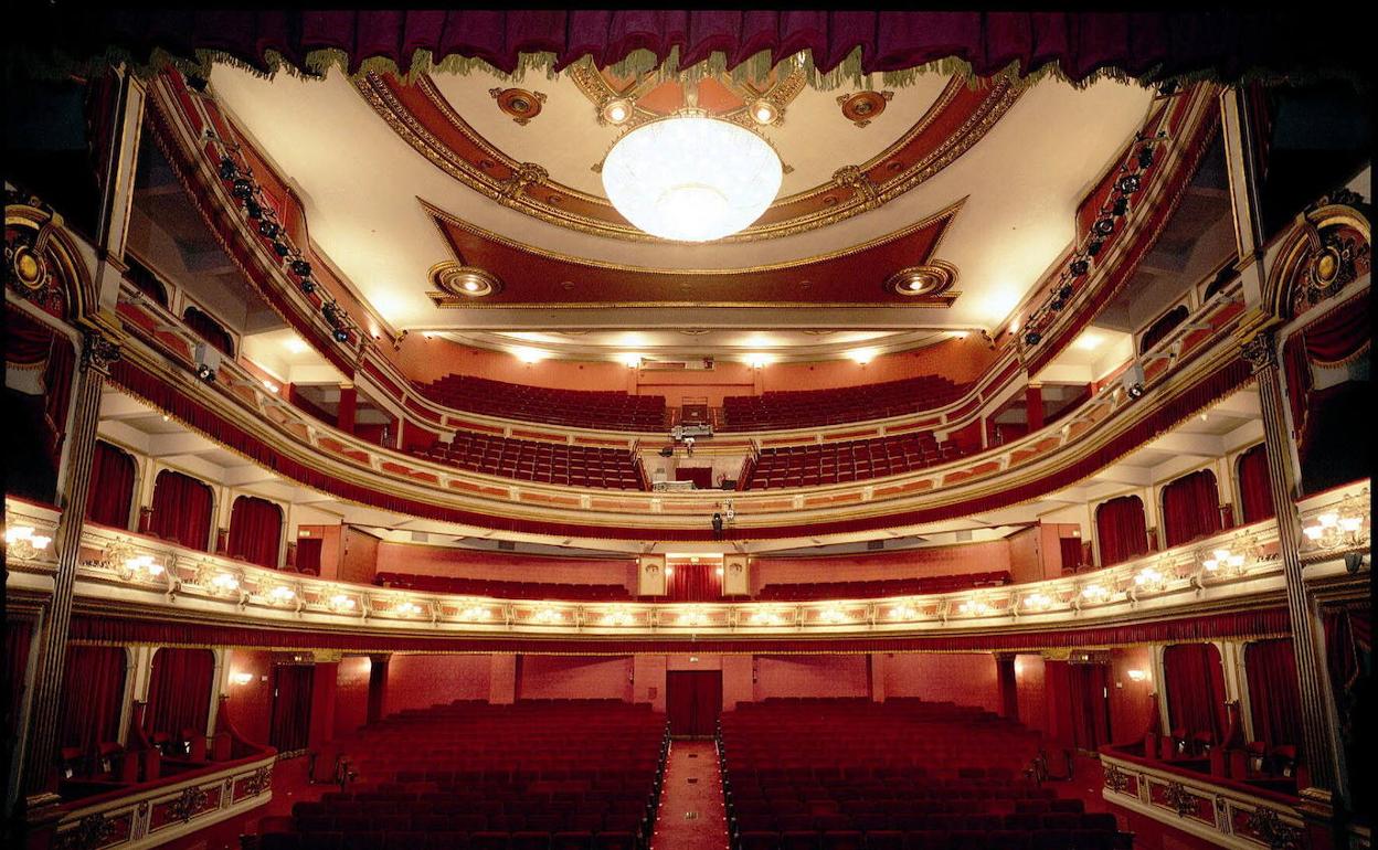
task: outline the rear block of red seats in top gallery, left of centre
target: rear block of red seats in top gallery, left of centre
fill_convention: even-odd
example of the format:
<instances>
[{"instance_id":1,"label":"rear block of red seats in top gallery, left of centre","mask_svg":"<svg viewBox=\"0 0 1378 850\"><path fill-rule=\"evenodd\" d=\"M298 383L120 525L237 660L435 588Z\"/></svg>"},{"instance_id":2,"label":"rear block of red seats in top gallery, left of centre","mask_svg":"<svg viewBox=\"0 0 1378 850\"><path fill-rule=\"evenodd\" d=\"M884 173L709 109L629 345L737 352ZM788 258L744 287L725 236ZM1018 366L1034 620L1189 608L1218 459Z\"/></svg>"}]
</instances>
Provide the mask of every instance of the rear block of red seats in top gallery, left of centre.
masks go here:
<instances>
[{"instance_id":1,"label":"rear block of red seats in top gallery, left of centre","mask_svg":"<svg viewBox=\"0 0 1378 850\"><path fill-rule=\"evenodd\" d=\"M469 375L449 375L423 384L422 391L456 411L504 419L615 431L660 431L666 427L664 395L531 387Z\"/></svg>"}]
</instances>

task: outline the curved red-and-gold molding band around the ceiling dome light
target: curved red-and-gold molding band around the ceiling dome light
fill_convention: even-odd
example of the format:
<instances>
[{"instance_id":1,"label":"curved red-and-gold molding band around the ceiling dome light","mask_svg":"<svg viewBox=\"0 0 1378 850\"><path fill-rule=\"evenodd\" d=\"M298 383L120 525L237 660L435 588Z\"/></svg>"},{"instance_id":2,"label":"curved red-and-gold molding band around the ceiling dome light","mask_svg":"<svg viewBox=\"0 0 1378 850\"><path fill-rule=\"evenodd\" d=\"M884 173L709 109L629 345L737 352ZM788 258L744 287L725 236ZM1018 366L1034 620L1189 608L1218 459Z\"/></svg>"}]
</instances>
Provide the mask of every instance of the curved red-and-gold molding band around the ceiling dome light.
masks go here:
<instances>
[{"instance_id":1,"label":"curved red-and-gold molding band around the ceiling dome light","mask_svg":"<svg viewBox=\"0 0 1378 850\"><path fill-rule=\"evenodd\" d=\"M452 129L462 134L481 152L478 163L471 163L459 156L451 149L449 145L440 141L433 132L430 132L430 129L427 129L422 121L419 121L416 116L397 99L387 83L379 74L362 74L356 81L356 90L364 101L397 135L400 135L418 153L424 156L433 165L480 194L499 204L531 215L539 220L575 230L577 233L624 241L666 241L659 237L653 237L630 223L608 220L608 218L621 218L608 198L588 194L572 186L555 182L550 179L548 172L546 172L546 169L539 164L520 163L504 154L481 134L478 134L463 118L463 116L455 112L453 106L451 106L429 76L420 76L415 81L415 85L418 91L427 101L430 101L437 112L445 117L445 121L452 127ZM919 186L980 142L985 134L1005 116L1005 113L1009 112L1010 106L1014 105L1022 91L1021 87L1014 85L1009 79L1002 77L991 81L989 96L985 98L980 107L976 109L959 128L944 138L933 150L918 157L916 161L908 165L897 158L898 152L904 150L904 147L919 134L929 129L929 127L952 103L952 101L966 90L969 90L967 83L962 79L954 77L948 81L943 94L927 109L923 117L921 117L919 121L916 121L914 127L911 127L898 141L865 163L845 167L845 169L864 172L885 164L885 167L893 172L893 176L889 176L879 183L875 183L874 179L868 178L867 182L874 186L871 191L857 191L845 201L834 201L830 204L828 201L832 200L830 193L835 193L839 187L842 187L836 179L832 179L805 191L777 198L774 204L772 204L772 208L779 208L821 197L824 200L820 201L820 209L813 209L780 222L754 225L737 234L723 237L719 241L752 242L825 227L870 209L875 209L876 207L887 204L889 201ZM594 114L591 120L597 121L598 116ZM514 180L511 178L499 179L488 174L488 171L497 169L499 167L503 171L511 171L514 175L520 174L522 176ZM535 197L532 193L526 191L528 187L540 189L542 197ZM595 216L573 212L570 209L562 209L559 204L566 198L595 207L599 209L599 215Z\"/></svg>"}]
</instances>

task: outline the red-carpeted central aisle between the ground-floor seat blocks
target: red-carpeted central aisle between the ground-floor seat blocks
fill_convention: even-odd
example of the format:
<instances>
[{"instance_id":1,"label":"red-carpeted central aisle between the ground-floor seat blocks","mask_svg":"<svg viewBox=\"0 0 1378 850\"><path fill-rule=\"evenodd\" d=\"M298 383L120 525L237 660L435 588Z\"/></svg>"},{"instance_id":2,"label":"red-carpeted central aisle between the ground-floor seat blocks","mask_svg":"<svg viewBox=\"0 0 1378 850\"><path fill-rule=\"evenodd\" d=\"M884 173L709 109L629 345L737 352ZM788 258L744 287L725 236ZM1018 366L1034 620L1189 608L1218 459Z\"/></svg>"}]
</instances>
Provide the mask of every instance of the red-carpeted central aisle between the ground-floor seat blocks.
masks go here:
<instances>
[{"instance_id":1,"label":"red-carpeted central aisle between the ground-floor seat blocks","mask_svg":"<svg viewBox=\"0 0 1378 850\"><path fill-rule=\"evenodd\" d=\"M650 850L726 850L728 818L712 741L671 741Z\"/></svg>"}]
</instances>

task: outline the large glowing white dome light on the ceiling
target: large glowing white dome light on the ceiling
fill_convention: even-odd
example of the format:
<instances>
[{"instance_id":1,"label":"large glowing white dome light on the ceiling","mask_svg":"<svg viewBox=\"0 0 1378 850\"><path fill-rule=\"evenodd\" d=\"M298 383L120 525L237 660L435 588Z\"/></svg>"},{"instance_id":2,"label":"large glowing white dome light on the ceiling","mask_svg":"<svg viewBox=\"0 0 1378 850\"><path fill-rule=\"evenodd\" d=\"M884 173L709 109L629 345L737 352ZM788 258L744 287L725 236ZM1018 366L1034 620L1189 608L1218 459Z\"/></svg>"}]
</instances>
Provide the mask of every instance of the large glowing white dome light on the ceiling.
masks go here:
<instances>
[{"instance_id":1,"label":"large glowing white dome light on the ceiling","mask_svg":"<svg viewBox=\"0 0 1378 850\"><path fill-rule=\"evenodd\" d=\"M617 212L652 236L686 242L748 227L780 193L783 176L769 142L692 110L621 136L602 168Z\"/></svg>"}]
</instances>

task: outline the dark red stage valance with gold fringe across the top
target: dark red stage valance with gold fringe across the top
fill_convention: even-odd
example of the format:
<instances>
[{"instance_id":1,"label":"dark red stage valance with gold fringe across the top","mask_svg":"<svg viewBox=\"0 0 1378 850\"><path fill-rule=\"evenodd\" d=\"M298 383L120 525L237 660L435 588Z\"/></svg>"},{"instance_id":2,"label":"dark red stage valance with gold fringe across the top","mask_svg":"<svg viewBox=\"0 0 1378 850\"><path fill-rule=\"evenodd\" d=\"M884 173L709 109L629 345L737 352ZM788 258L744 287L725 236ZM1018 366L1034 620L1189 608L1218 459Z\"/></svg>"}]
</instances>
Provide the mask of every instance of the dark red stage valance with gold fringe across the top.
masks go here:
<instances>
[{"instance_id":1,"label":"dark red stage valance with gold fringe across the top","mask_svg":"<svg viewBox=\"0 0 1378 850\"><path fill-rule=\"evenodd\" d=\"M475 56L511 73L524 52L555 54L557 68L591 55L602 68L633 50L681 66L714 51L734 66L758 51L784 59L812 51L823 70L861 50L865 72L915 68L959 58L991 74L1011 62L1025 70L1056 65L1082 80L1113 68L1152 77L1206 72L1235 80L1251 68L1288 72L1334 69L1356 74L1356 28L1324 26L1297 11L825 11L825 10L430 10L430 11L225 11L92 8L61 15L26 8L25 32L40 56L88 58L107 45L146 61L153 48L193 59L201 48L225 51L269 70L267 51L298 69L311 52L343 52L357 70L383 58L407 72L415 51L434 61ZM56 59L52 61L55 63Z\"/></svg>"}]
</instances>

